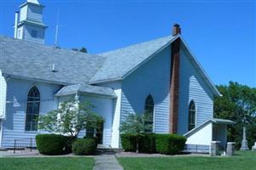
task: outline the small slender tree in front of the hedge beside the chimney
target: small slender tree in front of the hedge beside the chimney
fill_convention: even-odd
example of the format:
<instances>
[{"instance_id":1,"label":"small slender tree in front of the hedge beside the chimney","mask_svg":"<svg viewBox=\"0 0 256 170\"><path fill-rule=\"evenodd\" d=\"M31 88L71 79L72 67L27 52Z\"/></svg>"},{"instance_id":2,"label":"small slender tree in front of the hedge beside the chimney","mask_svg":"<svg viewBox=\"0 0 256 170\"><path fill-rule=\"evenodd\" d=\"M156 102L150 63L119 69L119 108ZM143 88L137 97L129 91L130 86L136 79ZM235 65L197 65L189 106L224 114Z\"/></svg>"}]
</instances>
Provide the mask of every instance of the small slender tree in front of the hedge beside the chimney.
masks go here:
<instances>
[{"instance_id":1,"label":"small slender tree in front of the hedge beside the chimney","mask_svg":"<svg viewBox=\"0 0 256 170\"><path fill-rule=\"evenodd\" d=\"M147 124L148 117L129 114L124 122L121 123L121 133L133 133L136 136L136 153L139 152L139 134L145 133L147 129L151 129L151 125Z\"/></svg>"}]
</instances>

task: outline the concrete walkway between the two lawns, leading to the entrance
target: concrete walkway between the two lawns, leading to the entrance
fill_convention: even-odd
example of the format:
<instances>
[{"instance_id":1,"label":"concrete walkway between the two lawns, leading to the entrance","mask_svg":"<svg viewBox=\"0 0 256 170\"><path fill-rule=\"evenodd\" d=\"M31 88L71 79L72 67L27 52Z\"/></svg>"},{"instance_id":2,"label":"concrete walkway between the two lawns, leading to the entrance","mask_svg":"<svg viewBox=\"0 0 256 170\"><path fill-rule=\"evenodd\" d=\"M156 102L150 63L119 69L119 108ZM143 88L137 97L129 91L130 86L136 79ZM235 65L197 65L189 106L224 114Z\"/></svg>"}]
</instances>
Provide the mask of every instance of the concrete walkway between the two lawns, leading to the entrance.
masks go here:
<instances>
[{"instance_id":1,"label":"concrete walkway between the two lawns, leading to the entrance","mask_svg":"<svg viewBox=\"0 0 256 170\"><path fill-rule=\"evenodd\" d=\"M122 170L115 155L94 156L94 170Z\"/></svg>"}]
</instances>

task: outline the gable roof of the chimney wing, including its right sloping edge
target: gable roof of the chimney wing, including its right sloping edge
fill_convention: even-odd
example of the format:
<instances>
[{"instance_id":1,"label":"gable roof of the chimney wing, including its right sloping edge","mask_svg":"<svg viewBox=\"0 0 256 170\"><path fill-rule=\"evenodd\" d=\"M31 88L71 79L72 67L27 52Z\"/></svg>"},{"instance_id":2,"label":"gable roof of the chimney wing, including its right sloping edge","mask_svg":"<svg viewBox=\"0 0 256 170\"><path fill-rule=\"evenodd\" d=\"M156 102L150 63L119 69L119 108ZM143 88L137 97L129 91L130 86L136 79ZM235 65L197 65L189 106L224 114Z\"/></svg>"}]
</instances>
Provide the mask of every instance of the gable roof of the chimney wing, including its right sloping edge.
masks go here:
<instances>
[{"instance_id":1,"label":"gable roof of the chimney wing, including its right sloping edge","mask_svg":"<svg viewBox=\"0 0 256 170\"><path fill-rule=\"evenodd\" d=\"M106 57L105 62L95 73L94 77L90 79L89 83L94 84L124 79L130 73L139 68L140 65L145 64L145 62L162 51L163 48L166 48L170 43L174 42L177 38L181 39L185 49L190 54L189 57L191 63L195 65L196 71L198 71L202 80L207 83L208 88L210 88L214 95L221 96L218 89L208 77L206 71L203 70L202 65L200 65L196 57L191 53L191 49L180 35L175 37L161 37L150 42L142 42L126 48L119 48L117 50L100 54Z\"/></svg>"}]
</instances>

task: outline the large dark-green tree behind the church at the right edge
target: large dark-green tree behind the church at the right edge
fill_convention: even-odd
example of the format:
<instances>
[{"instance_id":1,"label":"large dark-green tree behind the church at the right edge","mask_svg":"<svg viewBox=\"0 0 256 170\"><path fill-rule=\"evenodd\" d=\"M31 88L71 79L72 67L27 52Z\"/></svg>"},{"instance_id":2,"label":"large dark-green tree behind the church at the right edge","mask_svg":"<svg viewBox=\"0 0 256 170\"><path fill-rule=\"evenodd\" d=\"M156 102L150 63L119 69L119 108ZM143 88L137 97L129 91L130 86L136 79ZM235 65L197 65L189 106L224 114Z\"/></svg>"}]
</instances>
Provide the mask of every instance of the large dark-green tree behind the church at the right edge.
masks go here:
<instances>
[{"instance_id":1,"label":"large dark-green tree behind the church at the right edge","mask_svg":"<svg viewBox=\"0 0 256 170\"><path fill-rule=\"evenodd\" d=\"M238 147L242 141L242 127L247 127L247 140L251 147L256 141L256 88L237 82L217 88L223 96L214 99L214 116L236 122L228 127L228 139L235 141Z\"/></svg>"}]
</instances>

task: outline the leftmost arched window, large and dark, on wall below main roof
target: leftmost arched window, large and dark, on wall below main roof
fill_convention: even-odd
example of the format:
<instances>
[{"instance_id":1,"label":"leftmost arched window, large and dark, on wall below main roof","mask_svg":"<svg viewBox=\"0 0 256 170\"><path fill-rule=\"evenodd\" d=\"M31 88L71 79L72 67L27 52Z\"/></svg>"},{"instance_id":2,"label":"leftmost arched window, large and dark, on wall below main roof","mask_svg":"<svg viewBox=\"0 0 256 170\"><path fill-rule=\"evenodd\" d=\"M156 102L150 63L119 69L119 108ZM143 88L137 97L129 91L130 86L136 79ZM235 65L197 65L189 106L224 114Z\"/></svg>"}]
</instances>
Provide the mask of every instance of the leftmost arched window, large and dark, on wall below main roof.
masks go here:
<instances>
[{"instance_id":1,"label":"leftmost arched window, large and dark, on wall below main roof","mask_svg":"<svg viewBox=\"0 0 256 170\"><path fill-rule=\"evenodd\" d=\"M26 131L37 131L37 118L40 108L40 92L32 87L27 95L26 105Z\"/></svg>"}]
</instances>

